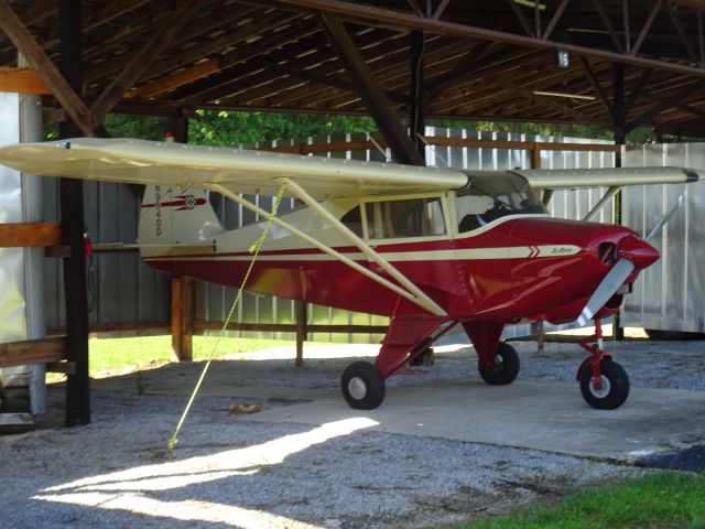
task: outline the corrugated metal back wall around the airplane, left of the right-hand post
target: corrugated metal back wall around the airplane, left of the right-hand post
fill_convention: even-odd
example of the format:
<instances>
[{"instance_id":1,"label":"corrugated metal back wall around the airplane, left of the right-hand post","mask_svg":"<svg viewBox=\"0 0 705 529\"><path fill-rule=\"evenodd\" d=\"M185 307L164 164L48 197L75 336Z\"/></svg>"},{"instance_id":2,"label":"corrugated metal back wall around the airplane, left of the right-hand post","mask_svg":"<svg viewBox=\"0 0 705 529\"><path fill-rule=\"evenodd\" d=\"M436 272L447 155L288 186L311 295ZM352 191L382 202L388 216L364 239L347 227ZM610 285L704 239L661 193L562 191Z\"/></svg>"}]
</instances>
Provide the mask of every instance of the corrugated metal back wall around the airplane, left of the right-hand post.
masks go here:
<instances>
[{"instance_id":1,"label":"corrugated metal back wall around the airplane, left of the right-hand post","mask_svg":"<svg viewBox=\"0 0 705 529\"><path fill-rule=\"evenodd\" d=\"M539 141L539 142L572 142L597 143L596 140L574 138L552 138L533 134L511 134L497 132L476 132L457 129L426 128L426 136L443 136L455 138L471 138L479 140L507 141ZM346 137L328 137L328 143L339 141L367 140L366 134L347 134ZM311 139L310 143L314 143ZM322 143L322 141L315 141ZM609 143L609 142L605 142ZM282 144L282 143L280 143ZM276 144L272 144L276 147ZM351 160L384 161L389 151L370 149L366 151L329 152L329 158L346 158ZM426 160L430 165L449 166L457 169L528 169L531 166L531 152L520 149L475 149L458 147L429 145ZM607 152L560 152L543 151L542 168L604 168L614 165L614 154ZM56 184L45 184L45 201L47 218L56 216ZM137 218L139 212L139 196L135 188L106 183L86 183L86 225L94 241L132 242L137 234ZM597 190L581 193L556 193L552 199L552 214L566 218L581 218L599 199L601 193ZM271 207L271 197L254 197L261 207ZM214 196L213 203L227 228L257 220L256 215L241 206ZM282 209L293 205L285 201ZM611 206L605 208L600 220L611 219ZM46 301L47 321L50 326L61 325L64 321L64 302L59 276L58 260L47 260L46 263ZM144 266L135 253L97 255L94 268L88 273L90 289L90 323L121 323L121 322L167 322L170 314L170 283L169 277L160 274ZM196 288L196 319L220 322L227 315L232 300L232 289L214 284L198 284ZM308 322L312 324L356 324L384 325L387 319L368 314L349 313L326 306L311 305ZM288 300L273 299L246 293L238 310L239 322L247 323L293 323L294 304ZM510 335L528 334L527 326L509 330ZM249 333L242 336L293 338L293 335L278 333ZM369 343L378 339L370 335L314 334L314 341L358 342Z\"/></svg>"}]
</instances>

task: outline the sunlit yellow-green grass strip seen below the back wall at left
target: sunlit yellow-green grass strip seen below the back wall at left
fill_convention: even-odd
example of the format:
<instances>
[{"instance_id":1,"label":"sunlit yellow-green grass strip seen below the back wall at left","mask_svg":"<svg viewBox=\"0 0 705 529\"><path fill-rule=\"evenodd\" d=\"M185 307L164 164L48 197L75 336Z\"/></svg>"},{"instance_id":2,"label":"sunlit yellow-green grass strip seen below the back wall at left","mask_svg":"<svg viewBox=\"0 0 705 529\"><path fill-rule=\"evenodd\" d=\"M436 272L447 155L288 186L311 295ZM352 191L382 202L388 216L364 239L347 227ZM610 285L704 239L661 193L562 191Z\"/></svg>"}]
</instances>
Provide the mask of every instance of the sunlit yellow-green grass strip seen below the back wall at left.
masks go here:
<instances>
[{"instance_id":1,"label":"sunlit yellow-green grass strip seen below the back wall at left","mask_svg":"<svg viewBox=\"0 0 705 529\"><path fill-rule=\"evenodd\" d=\"M194 360L205 360L210 357L216 345L217 336L194 336ZM268 347L294 345L291 341L254 339L254 338L223 338L216 350L216 356L246 353ZM95 377L110 371L131 371L160 366L172 360L171 336L140 336L135 338L90 338L89 371Z\"/></svg>"}]
</instances>

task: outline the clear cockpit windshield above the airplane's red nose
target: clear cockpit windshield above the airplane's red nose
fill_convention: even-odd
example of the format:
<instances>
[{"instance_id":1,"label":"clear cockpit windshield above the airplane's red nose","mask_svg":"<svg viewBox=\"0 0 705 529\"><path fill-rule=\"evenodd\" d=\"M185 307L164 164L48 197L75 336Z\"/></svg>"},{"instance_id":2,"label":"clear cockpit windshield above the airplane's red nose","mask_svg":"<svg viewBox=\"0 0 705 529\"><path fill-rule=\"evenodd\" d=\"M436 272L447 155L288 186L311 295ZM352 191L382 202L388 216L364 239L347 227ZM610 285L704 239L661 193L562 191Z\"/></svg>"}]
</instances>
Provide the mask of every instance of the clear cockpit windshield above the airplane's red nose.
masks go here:
<instances>
[{"instance_id":1,"label":"clear cockpit windshield above the airplane's red nose","mask_svg":"<svg viewBox=\"0 0 705 529\"><path fill-rule=\"evenodd\" d=\"M456 192L458 231L470 231L508 215L545 214L527 180L510 172L468 172L469 184Z\"/></svg>"}]
</instances>

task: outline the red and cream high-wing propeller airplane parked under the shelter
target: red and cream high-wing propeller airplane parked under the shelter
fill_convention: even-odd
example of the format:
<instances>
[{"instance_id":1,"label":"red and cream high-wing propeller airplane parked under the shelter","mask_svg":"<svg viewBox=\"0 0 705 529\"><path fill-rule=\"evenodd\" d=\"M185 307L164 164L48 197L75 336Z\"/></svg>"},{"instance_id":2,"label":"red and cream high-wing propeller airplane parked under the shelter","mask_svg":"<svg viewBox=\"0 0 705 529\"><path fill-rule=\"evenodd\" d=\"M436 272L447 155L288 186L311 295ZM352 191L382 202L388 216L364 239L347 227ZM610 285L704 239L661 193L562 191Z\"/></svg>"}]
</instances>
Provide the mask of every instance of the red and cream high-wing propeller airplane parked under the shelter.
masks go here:
<instances>
[{"instance_id":1,"label":"red and cream high-wing propeller airplane parked under the shelter","mask_svg":"<svg viewBox=\"0 0 705 529\"><path fill-rule=\"evenodd\" d=\"M619 310L659 252L627 227L587 220L622 186L699 179L677 168L457 171L90 138L4 147L0 162L29 174L147 184L138 245L150 266L174 274L238 287L250 244L271 223L248 290L390 317L375 364L343 371L343 395L357 409L379 407L384 380L456 324L482 379L508 385L519 356L500 341L506 325L575 320L595 321L577 370L584 399L621 406L629 378L604 348L600 319ZM555 190L600 186L608 191L585 220L546 213ZM209 191L262 220L224 229ZM242 193L284 193L305 207L276 216Z\"/></svg>"}]
</instances>

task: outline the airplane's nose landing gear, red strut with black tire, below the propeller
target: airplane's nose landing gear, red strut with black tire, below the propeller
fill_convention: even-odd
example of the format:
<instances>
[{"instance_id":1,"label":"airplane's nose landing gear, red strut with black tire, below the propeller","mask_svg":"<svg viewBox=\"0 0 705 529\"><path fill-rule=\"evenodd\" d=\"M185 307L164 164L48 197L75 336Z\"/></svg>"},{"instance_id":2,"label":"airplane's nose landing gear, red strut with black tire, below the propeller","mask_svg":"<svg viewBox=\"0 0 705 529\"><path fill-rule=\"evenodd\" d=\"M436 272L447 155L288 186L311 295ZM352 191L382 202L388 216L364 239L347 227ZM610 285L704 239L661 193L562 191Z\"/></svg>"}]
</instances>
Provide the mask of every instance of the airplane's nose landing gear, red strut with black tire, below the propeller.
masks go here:
<instances>
[{"instance_id":1,"label":"airplane's nose landing gear, red strut with black tire, below the propeller","mask_svg":"<svg viewBox=\"0 0 705 529\"><path fill-rule=\"evenodd\" d=\"M581 347L590 355L577 370L583 398L598 410L619 408L629 397L629 377L605 350L599 319L595 319L595 334L581 342Z\"/></svg>"}]
</instances>

